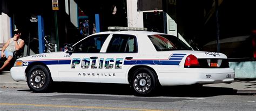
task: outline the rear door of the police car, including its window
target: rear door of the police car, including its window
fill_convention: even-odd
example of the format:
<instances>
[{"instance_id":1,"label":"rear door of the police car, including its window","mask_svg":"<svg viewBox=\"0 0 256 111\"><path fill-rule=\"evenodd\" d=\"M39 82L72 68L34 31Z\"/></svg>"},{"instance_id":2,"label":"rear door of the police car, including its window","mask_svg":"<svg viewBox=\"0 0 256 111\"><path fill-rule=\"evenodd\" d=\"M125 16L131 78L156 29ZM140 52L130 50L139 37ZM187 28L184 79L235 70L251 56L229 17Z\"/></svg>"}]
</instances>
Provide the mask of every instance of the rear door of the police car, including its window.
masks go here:
<instances>
[{"instance_id":1,"label":"rear door of the police car, including its window","mask_svg":"<svg viewBox=\"0 0 256 111\"><path fill-rule=\"evenodd\" d=\"M128 83L127 72L138 58L136 36L113 34L104 52L99 57L99 82Z\"/></svg>"}]
</instances>

